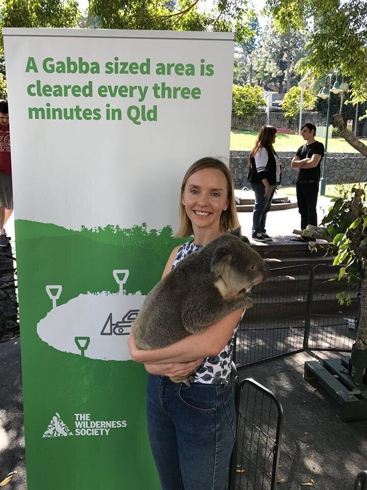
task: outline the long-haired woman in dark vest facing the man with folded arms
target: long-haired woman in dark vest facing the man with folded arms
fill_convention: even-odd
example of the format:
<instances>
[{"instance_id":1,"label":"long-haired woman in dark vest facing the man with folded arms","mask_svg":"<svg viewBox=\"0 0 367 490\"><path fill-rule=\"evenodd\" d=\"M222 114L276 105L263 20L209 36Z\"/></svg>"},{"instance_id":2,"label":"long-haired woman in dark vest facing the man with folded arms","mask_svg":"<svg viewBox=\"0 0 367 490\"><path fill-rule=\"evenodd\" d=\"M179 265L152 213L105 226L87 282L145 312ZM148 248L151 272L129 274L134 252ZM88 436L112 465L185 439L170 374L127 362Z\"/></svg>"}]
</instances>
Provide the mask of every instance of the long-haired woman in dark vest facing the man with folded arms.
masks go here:
<instances>
[{"instance_id":1,"label":"long-haired woman in dark vest facing the man with folded arms","mask_svg":"<svg viewBox=\"0 0 367 490\"><path fill-rule=\"evenodd\" d=\"M276 128L262 126L249 158L248 182L255 193L252 215L252 238L256 241L271 241L266 233L265 223L276 186L280 183L281 169L275 153Z\"/></svg>"}]
</instances>

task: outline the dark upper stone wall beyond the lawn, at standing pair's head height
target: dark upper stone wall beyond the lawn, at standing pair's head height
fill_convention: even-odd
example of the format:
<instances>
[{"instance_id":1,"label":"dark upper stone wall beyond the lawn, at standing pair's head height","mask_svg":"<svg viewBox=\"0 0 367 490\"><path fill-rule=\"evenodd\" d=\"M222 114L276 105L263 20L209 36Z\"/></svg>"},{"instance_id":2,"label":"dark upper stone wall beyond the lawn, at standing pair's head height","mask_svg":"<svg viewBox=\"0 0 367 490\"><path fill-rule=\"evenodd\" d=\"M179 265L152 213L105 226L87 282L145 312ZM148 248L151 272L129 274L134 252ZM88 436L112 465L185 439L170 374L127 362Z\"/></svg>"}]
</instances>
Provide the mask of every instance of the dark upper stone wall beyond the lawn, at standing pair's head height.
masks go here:
<instances>
[{"instance_id":1,"label":"dark upper stone wall beyond the lawn, at standing pair's head height","mask_svg":"<svg viewBox=\"0 0 367 490\"><path fill-rule=\"evenodd\" d=\"M312 122L315 126L326 126L326 116L318 112L303 112L302 122ZM266 124L265 112L260 112L255 117L239 117L232 114L231 129L239 131L258 131ZM299 118L285 119L282 111L269 114L269 124L275 128L286 128L298 132Z\"/></svg>"}]
</instances>

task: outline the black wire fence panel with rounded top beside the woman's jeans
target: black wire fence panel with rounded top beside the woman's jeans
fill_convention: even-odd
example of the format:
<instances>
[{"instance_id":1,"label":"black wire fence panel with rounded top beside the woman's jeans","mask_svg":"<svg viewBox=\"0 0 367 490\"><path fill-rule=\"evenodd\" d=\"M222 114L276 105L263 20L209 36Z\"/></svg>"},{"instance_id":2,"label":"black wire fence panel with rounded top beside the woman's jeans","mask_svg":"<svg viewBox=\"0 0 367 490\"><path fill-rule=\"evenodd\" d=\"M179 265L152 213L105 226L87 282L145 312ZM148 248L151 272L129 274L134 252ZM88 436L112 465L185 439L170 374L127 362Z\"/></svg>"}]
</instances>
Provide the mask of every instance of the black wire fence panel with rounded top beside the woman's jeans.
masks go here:
<instances>
[{"instance_id":1,"label":"black wire fence panel with rounded top beside the woman's jeans","mask_svg":"<svg viewBox=\"0 0 367 490\"><path fill-rule=\"evenodd\" d=\"M229 490L273 490L279 464L283 409L274 394L253 379L235 394L237 439Z\"/></svg>"}]
</instances>

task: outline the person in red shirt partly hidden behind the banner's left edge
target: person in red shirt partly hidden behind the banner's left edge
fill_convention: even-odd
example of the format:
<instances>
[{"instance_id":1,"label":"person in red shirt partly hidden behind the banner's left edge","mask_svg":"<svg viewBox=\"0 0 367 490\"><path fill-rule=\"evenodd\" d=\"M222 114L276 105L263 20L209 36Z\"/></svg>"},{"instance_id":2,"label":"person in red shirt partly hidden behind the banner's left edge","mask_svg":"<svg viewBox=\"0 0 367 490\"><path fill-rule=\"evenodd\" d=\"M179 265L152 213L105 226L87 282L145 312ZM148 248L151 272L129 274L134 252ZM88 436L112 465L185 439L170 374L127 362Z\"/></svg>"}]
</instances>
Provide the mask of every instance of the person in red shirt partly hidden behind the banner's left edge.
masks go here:
<instances>
[{"instance_id":1,"label":"person in red shirt partly hidden behind the banner's left edge","mask_svg":"<svg viewBox=\"0 0 367 490\"><path fill-rule=\"evenodd\" d=\"M13 212L8 102L0 101L0 247L8 247L4 226Z\"/></svg>"}]
</instances>

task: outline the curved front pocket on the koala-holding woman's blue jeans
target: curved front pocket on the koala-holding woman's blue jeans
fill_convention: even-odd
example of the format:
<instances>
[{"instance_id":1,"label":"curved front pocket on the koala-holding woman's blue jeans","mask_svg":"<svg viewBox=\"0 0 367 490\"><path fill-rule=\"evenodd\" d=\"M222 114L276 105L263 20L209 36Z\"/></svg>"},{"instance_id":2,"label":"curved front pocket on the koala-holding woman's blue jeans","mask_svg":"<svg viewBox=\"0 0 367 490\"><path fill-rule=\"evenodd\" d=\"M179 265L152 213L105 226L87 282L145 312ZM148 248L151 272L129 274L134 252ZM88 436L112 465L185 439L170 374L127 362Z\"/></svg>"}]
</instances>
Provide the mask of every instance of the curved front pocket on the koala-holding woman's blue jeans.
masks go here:
<instances>
[{"instance_id":1,"label":"curved front pocket on the koala-holding woman's blue jeans","mask_svg":"<svg viewBox=\"0 0 367 490\"><path fill-rule=\"evenodd\" d=\"M181 384L178 389L179 400L200 413L213 413L217 408L217 392L214 385L193 383L190 387Z\"/></svg>"}]
</instances>

